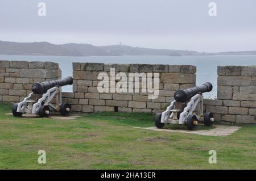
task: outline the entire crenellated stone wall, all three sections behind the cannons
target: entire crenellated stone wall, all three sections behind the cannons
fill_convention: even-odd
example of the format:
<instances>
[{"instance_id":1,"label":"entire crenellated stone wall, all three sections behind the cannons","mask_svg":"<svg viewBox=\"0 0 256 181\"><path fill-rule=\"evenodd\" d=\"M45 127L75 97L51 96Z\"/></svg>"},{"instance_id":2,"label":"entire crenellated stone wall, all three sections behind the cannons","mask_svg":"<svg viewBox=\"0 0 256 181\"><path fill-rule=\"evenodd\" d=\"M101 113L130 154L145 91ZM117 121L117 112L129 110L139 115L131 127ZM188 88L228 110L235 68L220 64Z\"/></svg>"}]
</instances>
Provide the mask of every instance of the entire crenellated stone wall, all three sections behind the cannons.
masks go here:
<instances>
[{"instance_id":1,"label":"entire crenellated stone wall, all three sections behind the cannons","mask_svg":"<svg viewBox=\"0 0 256 181\"><path fill-rule=\"evenodd\" d=\"M98 92L100 73L111 79L121 72L152 73L153 82L159 73L158 98L149 99L141 83L138 92ZM162 112L176 90L195 86L195 73L192 65L73 63L73 92L63 92L63 102L75 112ZM20 102L33 83L59 78L61 70L54 62L0 61L0 102ZM213 112L216 121L256 123L256 66L218 66L217 85L217 100L205 99L204 111Z\"/></svg>"}]
</instances>

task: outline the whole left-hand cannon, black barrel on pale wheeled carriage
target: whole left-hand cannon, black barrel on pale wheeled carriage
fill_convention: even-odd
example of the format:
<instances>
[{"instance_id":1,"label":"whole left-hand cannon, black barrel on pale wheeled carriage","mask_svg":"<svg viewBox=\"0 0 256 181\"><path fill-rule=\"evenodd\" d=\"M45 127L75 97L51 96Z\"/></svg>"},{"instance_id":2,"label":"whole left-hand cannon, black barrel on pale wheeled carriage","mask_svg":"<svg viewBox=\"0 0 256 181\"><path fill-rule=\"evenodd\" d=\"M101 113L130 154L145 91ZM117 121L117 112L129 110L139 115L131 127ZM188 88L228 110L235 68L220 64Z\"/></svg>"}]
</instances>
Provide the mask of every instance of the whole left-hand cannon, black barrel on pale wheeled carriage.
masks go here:
<instances>
[{"instance_id":1,"label":"whole left-hand cannon, black barrel on pale wheeled carriage","mask_svg":"<svg viewBox=\"0 0 256 181\"><path fill-rule=\"evenodd\" d=\"M72 84L72 77L34 83L32 92L22 102L13 105L13 115L22 116L23 113L28 113L49 117L51 110L55 110L67 116L71 111L71 105L62 103L61 87ZM55 103L52 103L53 99Z\"/></svg>"}]
</instances>

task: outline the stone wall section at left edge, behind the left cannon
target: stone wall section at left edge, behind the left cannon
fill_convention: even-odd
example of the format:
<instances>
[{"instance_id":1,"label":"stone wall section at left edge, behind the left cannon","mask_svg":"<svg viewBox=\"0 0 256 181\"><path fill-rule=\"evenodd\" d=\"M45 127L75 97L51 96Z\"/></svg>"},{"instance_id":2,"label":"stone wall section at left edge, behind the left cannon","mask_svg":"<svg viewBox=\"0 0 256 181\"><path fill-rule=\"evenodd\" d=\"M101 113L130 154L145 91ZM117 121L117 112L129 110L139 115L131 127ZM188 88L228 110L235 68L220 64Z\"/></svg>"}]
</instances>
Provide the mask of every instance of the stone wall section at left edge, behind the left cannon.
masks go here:
<instances>
[{"instance_id":1,"label":"stone wall section at left edge, behind the left cannon","mask_svg":"<svg viewBox=\"0 0 256 181\"><path fill-rule=\"evenodd\" d=\"M0 101L20 102L35 82L61 77L53 62L0 61Z\"/></svg>"}]
</instances>

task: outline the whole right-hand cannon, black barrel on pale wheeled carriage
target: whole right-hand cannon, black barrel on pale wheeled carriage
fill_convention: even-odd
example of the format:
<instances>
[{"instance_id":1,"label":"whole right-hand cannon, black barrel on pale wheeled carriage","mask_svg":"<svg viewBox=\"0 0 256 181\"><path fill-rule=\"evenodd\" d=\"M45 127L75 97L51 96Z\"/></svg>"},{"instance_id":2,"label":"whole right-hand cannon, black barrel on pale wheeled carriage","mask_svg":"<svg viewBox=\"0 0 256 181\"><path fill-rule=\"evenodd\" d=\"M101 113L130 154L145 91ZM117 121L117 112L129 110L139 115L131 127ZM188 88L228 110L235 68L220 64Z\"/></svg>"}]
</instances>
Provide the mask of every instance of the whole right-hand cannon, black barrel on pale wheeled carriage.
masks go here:
<instances>
[{"instance_id":1,"label":"whole right-hand cannon, black barrel on pale wheeled carriage","mask_svg":"<svg viewBox=\"0 0 256 181\"><path fill-rule=\"evenodd\" d=\"M163 128L164 124L185 124L188 130L195 130L199 121L211 127L214 122L213 114L203 112L203 93L212 91L212 84L205 82L200 86L177 90L175 100L166 111L155 115L155 125Z\"/></svg>"}]
</instances>

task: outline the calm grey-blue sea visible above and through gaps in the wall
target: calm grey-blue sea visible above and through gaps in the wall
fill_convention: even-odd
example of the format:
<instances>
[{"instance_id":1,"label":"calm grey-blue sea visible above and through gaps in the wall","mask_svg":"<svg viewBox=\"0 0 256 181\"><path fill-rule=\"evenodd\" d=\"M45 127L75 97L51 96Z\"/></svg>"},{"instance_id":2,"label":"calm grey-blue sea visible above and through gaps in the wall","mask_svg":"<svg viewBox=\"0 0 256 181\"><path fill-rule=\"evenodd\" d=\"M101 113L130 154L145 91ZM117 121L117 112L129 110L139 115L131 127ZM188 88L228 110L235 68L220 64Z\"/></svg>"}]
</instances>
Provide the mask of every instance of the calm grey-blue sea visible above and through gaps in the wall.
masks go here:
<instances>
[{"instance_id":1,"label":"calm grey-blue sea visible above and through gaps in the wall","mask_svg":"<svg viewBox=\"0 0 256 181\"><path fill-rule=\"evenodd\" d=\"M169 64L195 65L196 83L211 82L213 90L204 94L207 98L217 95L218 65L256 65L256 56L7 56L0 55L0 60L52 61L59 63L62 77L72 76L72 62L102 62L106 64ZM72 91L72 86L64 86L63 91Z\"/></svg>"}]
</instances>

